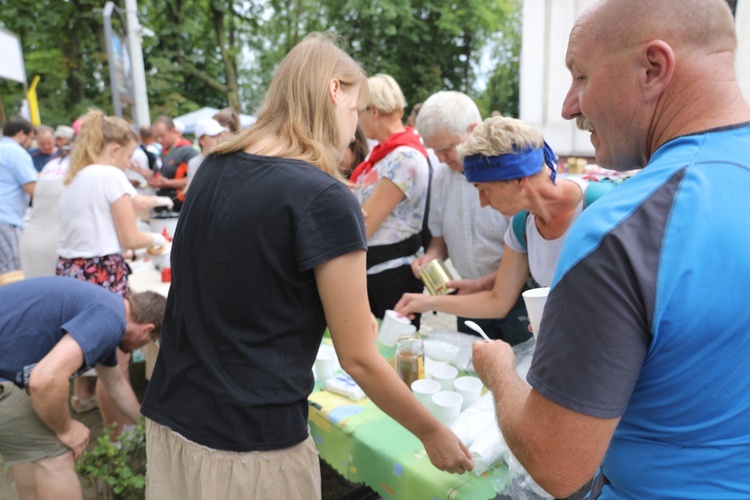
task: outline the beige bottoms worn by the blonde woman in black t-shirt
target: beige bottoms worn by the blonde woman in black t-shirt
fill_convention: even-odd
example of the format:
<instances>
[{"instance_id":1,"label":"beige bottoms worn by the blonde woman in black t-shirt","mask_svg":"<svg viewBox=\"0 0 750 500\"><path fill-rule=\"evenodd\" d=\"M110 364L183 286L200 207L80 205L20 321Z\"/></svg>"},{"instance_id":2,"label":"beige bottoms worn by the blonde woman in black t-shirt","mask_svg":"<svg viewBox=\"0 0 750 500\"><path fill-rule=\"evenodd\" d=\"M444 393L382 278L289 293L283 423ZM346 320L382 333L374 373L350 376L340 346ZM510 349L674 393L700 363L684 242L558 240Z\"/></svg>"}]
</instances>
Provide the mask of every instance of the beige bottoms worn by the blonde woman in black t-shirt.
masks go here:
<instances>
[{"instance_id":1,"label":"beige bottoms worn by the blonde woman in black t-shirt","mask_svg":"<svg viewBox=\"0 0 750 500\"><path fill-rule=\"evenodd\" d=\"M214 450L146 419L146 498L197 500L320 499L320 462L312 437L273 451Z\"/></svg>"}]
</instances>

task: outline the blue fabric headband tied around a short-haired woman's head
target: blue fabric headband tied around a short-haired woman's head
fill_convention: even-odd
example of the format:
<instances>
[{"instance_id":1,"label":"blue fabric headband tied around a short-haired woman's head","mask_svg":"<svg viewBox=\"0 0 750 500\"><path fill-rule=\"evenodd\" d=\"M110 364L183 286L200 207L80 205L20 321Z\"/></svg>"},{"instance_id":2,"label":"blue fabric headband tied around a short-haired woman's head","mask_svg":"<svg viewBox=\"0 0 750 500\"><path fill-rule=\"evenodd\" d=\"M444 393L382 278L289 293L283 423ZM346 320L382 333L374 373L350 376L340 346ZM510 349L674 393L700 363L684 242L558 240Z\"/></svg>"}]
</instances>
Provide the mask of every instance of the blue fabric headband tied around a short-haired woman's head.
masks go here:
<instances>
[{"instance_id":1,"label":"blue fabric headband tied around a short-haired woman's head","mask_svg":"<svg viewBox=\"0 0 750 500\"><path fill-rule=\"evenodd\" d=\"M509 181L538 174L544 161L555 184L557 159L545 142L543 148L527 148L500 156L471 155L464 158L464 175L469 182Z\"/></svg>"}]
</instances>

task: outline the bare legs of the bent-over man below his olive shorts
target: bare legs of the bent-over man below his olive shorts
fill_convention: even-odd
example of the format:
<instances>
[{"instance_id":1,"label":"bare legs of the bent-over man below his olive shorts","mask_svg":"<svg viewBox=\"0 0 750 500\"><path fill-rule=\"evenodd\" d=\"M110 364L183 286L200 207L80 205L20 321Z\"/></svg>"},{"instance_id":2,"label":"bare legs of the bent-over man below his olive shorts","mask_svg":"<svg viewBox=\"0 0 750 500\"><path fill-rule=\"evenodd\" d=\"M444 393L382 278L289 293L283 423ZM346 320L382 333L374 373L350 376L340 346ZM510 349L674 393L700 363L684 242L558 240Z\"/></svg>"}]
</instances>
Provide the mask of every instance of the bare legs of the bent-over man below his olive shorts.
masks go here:
<instances>
[{"instance_id":1,"label":"bare legs of the bent-over man below his olive shorts","mask_svg":"<svg viewBox=\"0 0 750 500\"><path fill-rule=\"evenodd\" d=\"M24 482L24 487L28 486L29 477L33 478L31 486L32 490L36 490L34 496L24 496L25 493L20 488L19 476ZM75 460L71 451L56 457L16 465L13 467L13 478L16 480L22 500L81 500L83 498L81 481L76 475Z\"/></svg>"}]
</instances>

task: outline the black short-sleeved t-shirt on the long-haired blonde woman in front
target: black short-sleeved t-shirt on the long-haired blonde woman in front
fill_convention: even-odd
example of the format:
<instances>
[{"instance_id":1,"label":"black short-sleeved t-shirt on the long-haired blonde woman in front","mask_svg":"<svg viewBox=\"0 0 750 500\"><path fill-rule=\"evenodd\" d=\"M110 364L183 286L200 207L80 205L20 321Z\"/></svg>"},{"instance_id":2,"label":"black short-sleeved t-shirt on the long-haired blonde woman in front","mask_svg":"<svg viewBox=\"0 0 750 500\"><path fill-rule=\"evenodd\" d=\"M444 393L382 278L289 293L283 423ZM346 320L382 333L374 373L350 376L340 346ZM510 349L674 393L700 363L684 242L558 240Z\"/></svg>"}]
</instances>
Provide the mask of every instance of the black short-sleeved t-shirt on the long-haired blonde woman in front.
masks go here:
<instances>
[{"instance_id":1,"label":"black short-sleeved t-shirt on the long-haired blonde woman in front","mask_svg":"<svg viewBox=\"0 0 750 500\"><path fill-rule=\"evenodd\" d=\"M313 268L366 241L359 204L325 172L296 160L209 155L177 224L143 414L215 449L306 439L326 327Z\"/></svg>"}]
</instances>

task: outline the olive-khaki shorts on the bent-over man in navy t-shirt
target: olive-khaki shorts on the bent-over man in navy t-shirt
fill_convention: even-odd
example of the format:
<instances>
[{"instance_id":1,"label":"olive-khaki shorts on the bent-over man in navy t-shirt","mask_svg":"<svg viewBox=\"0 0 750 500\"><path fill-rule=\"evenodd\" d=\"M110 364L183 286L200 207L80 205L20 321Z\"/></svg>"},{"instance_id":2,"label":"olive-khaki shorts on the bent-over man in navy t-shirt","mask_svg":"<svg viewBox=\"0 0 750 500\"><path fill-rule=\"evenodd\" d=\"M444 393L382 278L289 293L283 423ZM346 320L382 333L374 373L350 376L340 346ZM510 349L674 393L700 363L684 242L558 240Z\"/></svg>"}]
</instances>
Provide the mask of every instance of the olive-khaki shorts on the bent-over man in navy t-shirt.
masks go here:
<instances>
[{"instance_id":1,"label":"olive-khaki shorts on the bent-over man in navy t-shirt","mask_svg":"<svg viewBox=\"0 0 750 500\"><path fill-rule=\"evenodd\" d=\"M13 382L0 383L0 455L8 467L69 452L39 420L31 397Z\"/></svg>"}]
</instances>

